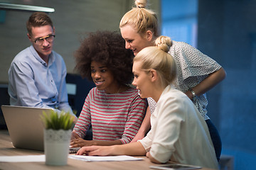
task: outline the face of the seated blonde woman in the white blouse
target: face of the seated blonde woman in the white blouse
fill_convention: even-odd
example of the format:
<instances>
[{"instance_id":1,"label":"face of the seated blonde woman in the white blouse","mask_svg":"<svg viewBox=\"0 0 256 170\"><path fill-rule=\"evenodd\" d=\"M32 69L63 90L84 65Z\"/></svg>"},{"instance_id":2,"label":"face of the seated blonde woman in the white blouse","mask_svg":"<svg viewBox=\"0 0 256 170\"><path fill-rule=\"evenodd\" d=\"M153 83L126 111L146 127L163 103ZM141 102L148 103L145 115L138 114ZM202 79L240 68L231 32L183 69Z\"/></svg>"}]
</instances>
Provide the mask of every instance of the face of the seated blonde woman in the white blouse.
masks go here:
<instances>
[{"instance_id":1,"label":"face of the seated blonde woman in the white blouse","mask_svg":"<svg viewBox=\"0 0 256 170\"><path fill-rule=\"evenodd\" d=\"M151 97L151 79L150 74L141 69L142 62L136 61L133 64L132 72L134 74L134 81L132 85L136 86L139 90L139 96L141 98Z\"/></svg>"}]
</instances>

